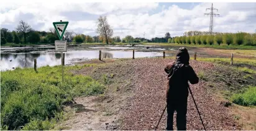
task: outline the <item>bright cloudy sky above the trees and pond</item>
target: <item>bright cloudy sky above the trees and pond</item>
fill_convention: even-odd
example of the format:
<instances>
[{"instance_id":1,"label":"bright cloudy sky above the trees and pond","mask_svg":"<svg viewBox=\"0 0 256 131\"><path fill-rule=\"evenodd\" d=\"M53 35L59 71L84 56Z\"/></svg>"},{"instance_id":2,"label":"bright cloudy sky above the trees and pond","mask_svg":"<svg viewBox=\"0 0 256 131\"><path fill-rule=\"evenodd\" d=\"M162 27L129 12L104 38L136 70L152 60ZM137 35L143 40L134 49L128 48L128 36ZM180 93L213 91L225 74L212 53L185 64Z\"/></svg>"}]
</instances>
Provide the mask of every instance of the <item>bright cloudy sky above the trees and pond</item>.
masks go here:
<instances>
[{"instance_id":1,"label":"bright cloudy sky above the trees and pond","mask_svg":"<svg viewBox=\"0 0 256 131\"><path fill-rule=\"evenodd\" d=\"M220 17L214 17L214 32L250 32L256 30L256 3L213 3ZM106 15L114 36L162 37L170 32L180 36L188 30L209 30L210 17L204 13L211 3L43 3L0 2L1 28L15 30L24 20L35 30L48 31L52 22L68 21L66 30L96 35L99 15Z\"/></svg>"}]
</instances>

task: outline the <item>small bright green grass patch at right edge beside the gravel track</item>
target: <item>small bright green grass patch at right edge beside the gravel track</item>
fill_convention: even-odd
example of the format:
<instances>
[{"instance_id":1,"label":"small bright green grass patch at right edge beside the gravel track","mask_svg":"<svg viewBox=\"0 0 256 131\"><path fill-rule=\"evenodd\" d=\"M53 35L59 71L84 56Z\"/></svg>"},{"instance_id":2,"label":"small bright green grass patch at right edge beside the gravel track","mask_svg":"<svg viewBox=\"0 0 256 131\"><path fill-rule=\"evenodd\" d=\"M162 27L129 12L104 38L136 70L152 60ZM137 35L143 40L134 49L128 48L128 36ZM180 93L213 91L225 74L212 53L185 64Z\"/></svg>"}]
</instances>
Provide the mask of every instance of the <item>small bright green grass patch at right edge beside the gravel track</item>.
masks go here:
<instances>
[{"instance_id":1,"label":"small bright green grass patch at right edge beside the gravel track","mask_svg":"<svg viewBox=\"0 0 256 131\"><path fill-rule=\"evenodd\" d=\"M242 106L256 106L256 87L249 87L243 93L234 94L232 102Z\"/></svg>"}]
</instances>

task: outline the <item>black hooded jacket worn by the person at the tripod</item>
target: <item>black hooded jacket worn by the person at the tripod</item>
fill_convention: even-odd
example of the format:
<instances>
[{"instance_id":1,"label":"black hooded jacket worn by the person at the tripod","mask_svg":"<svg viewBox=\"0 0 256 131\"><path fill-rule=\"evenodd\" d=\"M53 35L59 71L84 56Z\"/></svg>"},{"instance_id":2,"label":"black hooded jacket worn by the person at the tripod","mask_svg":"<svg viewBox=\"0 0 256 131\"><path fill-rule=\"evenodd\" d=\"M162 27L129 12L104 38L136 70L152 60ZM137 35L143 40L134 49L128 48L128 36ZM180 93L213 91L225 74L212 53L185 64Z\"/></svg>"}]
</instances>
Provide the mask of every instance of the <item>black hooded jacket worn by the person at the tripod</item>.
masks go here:
<instances>
[{"instance_id":1,"label":"black hooded jacket worn by the person at the tripod","mask_svg":"<svg viewBox=\"0 0 256 131\"><path fill-rule=\"evenodd\" d=\"M187 98L188 82L198 83L199 78L190 66L190 55L186 48L180 48L176 54L176 62L169 63L165 67L168 74L167 99Z\"/></svg>"}]
</instances>

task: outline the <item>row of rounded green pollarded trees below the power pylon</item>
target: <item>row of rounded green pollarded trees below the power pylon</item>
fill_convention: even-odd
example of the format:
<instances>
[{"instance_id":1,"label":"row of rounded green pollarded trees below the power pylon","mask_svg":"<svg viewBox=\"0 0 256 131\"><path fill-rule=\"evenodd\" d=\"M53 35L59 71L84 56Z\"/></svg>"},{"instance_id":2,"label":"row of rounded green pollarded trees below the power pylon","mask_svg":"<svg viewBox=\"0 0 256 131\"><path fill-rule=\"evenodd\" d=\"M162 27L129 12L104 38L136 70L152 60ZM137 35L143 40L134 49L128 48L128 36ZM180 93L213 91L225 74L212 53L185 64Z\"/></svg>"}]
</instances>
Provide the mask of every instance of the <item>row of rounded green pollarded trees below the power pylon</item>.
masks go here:
<instances>
[{"instance_id":1,"label":"row of rounded green pollarded trees below the power pylon","mask_svg":"<svg viewBox=\"0 0 256 131\"><path fill-rule=\"evenodd\" d=\"M245 46L256 46L256 33L213 33L213 35L191 35L176 36L175 43L178 44L237 44ZM188 35L189 34L189 35Z\"/></svg>"}]
</instances>

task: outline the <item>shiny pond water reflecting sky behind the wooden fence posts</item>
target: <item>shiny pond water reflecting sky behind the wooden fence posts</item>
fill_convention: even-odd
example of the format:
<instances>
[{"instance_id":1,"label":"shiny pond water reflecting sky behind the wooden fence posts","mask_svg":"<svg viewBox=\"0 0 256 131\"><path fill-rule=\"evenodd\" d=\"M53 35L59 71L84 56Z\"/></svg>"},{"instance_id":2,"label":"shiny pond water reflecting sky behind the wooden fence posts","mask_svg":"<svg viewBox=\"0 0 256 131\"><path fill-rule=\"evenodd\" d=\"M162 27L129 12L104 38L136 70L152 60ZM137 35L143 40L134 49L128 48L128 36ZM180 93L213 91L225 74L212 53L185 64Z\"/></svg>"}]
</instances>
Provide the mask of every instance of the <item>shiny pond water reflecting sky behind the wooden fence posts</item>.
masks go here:
<instances>
[{"instance_id":1,"label":"shiny pond water reflecting sky behind the wooden fence posts","mask_svg":"<svg viewBox=\"0 0 256 131\"><path fill-rule=\"evenodd\" d=\"M135 57L162 56L162 53L135 52ZM9 70L12 67L34 67L34 59L37 59L37 67L55 66L61 64L60 53L25 53L25 54L1 54L1 70ZM76 59L98 59L99 51L68 51L65 53L65 64L71 64ZM103 51L101 58L132 58L132 51Z\"/></svg>"}]
</instances>

